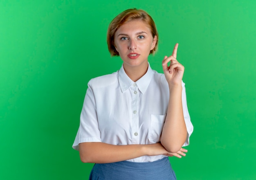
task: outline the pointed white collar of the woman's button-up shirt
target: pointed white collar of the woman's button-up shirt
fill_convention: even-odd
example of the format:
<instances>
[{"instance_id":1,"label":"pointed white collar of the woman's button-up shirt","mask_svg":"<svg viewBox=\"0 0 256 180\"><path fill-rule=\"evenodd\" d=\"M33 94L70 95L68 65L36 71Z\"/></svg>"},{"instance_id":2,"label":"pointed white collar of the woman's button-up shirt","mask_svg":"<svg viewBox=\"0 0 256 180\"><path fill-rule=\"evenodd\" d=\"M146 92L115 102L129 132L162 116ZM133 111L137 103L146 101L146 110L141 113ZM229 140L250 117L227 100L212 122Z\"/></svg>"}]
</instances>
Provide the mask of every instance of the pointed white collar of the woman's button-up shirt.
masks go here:
<instances>
[{"instance_id":1,"label":"pointed white collar of the woman's button-up shirt","mask_svg":"<svg viewBox=\"0 0 256 180\"><path fill-rule=\"evenodd\" d=\"M144 76L142 76L138 81L134 82L128 77L126 72L124 71L124 65L122 65L121 69L118 71L118 81L121 91L124 93L128 90L134 83L136 83L137 87L139 88L140 92L144 94L147 90L148 85L151 81L153 76L153 70L151 69L148 63L148 70Z\"/></svg>"}]
</instances>

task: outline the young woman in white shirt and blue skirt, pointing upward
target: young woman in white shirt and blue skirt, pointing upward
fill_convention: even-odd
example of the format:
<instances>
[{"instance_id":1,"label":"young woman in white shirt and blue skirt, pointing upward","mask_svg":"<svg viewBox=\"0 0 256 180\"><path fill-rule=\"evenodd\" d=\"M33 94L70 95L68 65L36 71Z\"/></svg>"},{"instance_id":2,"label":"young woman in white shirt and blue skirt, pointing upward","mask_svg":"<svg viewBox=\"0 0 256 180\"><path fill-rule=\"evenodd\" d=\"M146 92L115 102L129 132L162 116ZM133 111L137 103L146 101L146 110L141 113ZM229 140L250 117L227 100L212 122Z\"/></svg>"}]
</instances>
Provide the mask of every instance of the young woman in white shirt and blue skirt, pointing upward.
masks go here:
<instances>
[{"instance_id":1,"label":"young woman in white shirt and blue skirt, pointing upward","mask_svg":"<svg viewBox=\"0 0 256 180\"><path fill-rule=\"evenodd\" d=\"M73 148L82 162L96 163L92 180L176 179L168 156L185 156L182 146L193 132L178 44L164 57L160 74L148 63L158 44L148 13L120 13L107 36L110 54L120 56L123 65L89 81Z\"/></svg>"}]
</instances>

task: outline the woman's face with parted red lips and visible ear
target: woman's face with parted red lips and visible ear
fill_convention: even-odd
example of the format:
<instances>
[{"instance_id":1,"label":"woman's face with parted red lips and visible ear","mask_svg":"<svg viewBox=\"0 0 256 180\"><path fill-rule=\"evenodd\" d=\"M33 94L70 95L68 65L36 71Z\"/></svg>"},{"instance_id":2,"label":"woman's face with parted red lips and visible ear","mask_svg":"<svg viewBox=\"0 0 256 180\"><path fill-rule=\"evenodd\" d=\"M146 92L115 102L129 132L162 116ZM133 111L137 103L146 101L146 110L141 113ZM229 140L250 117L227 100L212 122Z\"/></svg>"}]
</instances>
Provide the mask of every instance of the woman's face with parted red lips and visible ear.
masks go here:
<instances>
[{"instance_id":1,"label":"woman's face with parted red lips and visible ear","mask_svg":"<svg viewBox=\"0 0 256 180\"><path fill-rule=\"evenodd\" d=\"M124 61L124 68L148 67L148 55L155 48L154 38L142 20L126 22L115 33L115 48Z\"/></svg>"}]
</instances>

